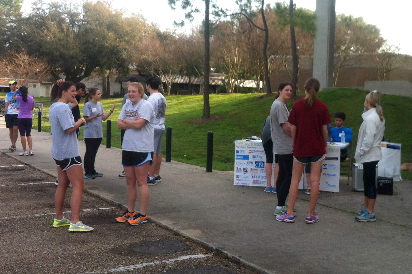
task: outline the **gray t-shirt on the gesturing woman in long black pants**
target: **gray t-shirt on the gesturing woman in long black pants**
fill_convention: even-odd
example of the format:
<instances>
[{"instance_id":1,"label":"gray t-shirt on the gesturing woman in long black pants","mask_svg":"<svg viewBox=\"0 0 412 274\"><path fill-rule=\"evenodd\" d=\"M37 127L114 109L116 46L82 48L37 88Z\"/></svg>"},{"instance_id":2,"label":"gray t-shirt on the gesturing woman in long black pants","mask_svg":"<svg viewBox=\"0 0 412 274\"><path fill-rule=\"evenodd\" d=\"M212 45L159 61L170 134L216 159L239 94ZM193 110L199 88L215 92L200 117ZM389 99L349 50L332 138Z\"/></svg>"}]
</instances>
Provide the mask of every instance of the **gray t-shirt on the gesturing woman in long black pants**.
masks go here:
<instances>
[{"instance_id":1,"label":"gray t-shirt on the gesturing woman in long black pants","mask_svg":"<svg viewBox=\"0 0 412 274\"><path fill-rule=\"evenodd\" d=\"M101 113L103 109L103 105L100 102L87 102L84 104L83 108L83 116L95 116ZM94 118L93 120L87 122L84 125L84 138L103 138L103 125L102 125L102 116Z\"/></svg>"}]
</instances>

